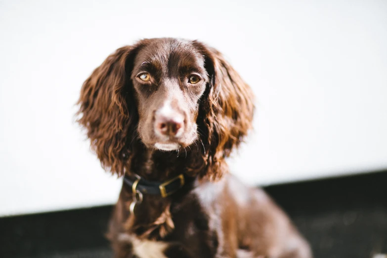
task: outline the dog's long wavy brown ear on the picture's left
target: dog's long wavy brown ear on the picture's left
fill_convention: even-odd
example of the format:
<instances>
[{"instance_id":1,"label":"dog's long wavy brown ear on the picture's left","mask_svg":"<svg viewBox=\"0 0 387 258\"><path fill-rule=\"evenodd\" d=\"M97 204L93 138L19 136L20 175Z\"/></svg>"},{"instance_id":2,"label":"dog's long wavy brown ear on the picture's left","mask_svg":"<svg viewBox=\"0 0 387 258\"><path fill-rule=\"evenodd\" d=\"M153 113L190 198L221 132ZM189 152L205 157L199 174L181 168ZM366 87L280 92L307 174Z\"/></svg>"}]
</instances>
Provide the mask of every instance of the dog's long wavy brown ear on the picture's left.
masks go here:
<instances>
[{"instance_id":1,"label":"dog's long wavy brown ear on the picture's left","mask_svg":"<svg viewBox=\"0 0 387 258\"><path fill-rule=\"evenodd\" d=\"M124 46L109 55L82 86L78 123L90 139L105 170L123 175L129 169L130 143L138 113L130 72L139 44Z\"/></svg>"}]
</instances>

